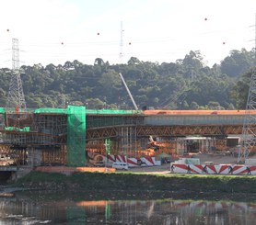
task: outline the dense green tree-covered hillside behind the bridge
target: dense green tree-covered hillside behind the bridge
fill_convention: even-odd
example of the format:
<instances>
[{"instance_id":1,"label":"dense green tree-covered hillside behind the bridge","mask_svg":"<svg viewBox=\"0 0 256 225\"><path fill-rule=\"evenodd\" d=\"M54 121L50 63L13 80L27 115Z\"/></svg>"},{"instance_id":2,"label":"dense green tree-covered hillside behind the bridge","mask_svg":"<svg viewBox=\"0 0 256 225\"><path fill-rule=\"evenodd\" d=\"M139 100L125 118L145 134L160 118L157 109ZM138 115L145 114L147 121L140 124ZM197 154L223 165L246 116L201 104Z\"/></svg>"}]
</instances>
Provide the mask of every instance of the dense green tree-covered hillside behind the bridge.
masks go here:
<instances>
[{"instance_id":1,"label":"dense green tree-covered hillside behind the bridge","mask_svg":"<svg viewBox=\"0 0 256 225\"><path fill-rule=\"evenodd\" d=\"M142 107L171 109L244 108L254 50L231 51L220 63L204 65L200 51L176 62L125 64L96 59L94 65L23 65L21 79L27 107L133 108L118 73L122 73L134 100ZM6 106L11 73L0 70L0 106Z\"/></svg>"}]
</instances>

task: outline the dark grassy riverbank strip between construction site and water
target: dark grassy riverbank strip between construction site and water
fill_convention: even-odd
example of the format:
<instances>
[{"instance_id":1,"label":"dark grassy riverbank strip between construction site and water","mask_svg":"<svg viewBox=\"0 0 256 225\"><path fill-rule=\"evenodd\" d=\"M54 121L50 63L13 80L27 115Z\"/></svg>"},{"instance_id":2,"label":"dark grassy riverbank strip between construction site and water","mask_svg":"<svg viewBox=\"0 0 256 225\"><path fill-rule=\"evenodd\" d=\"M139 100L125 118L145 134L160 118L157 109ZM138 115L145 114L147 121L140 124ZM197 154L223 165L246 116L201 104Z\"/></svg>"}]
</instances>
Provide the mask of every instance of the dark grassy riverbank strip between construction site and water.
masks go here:
<instances>
[{"instance_id":1,"label":"dark grassy riverbank strip between construction site and water","mask_svg":"<svg viewBox=\"0 0 256 225\"><path fill-rule=\"evenodd\" d=\"M57 173L31 172L11 186L34 190L156 191L256 196L256 176L198 174Z\"/></svg>"}]
</instances>

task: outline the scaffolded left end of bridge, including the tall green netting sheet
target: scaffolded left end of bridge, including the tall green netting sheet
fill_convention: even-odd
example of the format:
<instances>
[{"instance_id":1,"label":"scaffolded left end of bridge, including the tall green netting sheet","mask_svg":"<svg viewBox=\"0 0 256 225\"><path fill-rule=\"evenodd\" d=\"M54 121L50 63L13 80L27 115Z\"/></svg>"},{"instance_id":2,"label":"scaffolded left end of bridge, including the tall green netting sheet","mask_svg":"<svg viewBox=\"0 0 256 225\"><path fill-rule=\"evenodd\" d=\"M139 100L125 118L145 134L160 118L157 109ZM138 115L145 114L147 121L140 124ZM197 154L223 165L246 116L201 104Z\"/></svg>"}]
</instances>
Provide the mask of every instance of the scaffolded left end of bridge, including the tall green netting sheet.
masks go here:
<instances>
[{"instance_id":1,"label":"scaffolded left end of bridge, including the tall green netting sheet","mask_svg":"<svg viewBox=\"0 0 256 225\"><path fill-rule=\"evenodd\" d=\"M7 112L0 107L0 125L1 145L10 146L7 152L16 152L19 155L17 158L24 159L23 155L29 150L29 162L33 165L33 161L40 161L41 164L85 165L85 107L22 111L9 108Z\"/></svg>"}]
</instances>

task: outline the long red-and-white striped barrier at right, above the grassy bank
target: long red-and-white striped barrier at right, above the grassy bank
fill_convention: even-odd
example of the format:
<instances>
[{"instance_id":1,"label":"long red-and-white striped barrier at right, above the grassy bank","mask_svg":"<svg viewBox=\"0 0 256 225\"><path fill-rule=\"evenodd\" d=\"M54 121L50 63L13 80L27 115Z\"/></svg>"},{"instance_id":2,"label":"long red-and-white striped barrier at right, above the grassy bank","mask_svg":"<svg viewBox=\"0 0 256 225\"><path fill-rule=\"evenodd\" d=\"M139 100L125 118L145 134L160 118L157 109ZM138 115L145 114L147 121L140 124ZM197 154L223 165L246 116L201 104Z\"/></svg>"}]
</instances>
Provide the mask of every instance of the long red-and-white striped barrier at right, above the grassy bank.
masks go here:
<instances>
[{"instance_id":1,"label":"long red-and-white striped barrier at right, above the grassy bank","mask_svg":"<svg viewBox=\"0 0 256 225\"><path fill-rule=\"evenodd\" d=\"M171 163L170 170L177 174L256 174L256 165L239 164L180 164Z\"/></svg>"}]
</instances>

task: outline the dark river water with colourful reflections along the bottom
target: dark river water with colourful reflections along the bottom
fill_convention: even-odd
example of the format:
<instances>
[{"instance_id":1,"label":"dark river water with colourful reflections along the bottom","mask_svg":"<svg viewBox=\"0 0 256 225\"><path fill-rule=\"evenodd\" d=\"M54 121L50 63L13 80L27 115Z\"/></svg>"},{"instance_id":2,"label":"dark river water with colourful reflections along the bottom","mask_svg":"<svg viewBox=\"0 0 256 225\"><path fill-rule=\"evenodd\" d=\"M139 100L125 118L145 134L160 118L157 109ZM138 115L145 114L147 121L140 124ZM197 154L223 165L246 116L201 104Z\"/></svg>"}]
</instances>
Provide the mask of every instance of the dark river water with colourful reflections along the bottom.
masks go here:
<instances>
[{"instance_id":1,"label":"dark river water with colourful reflections along the bottom","mask_svg":"<svg viewBox=\"0 0 256 225\"><path fill-rule=\"evenodd\" d=\"M190 200L79 201L1 197L0 224L255 224L256 204Z\"/></svg>"}]
</instances>

